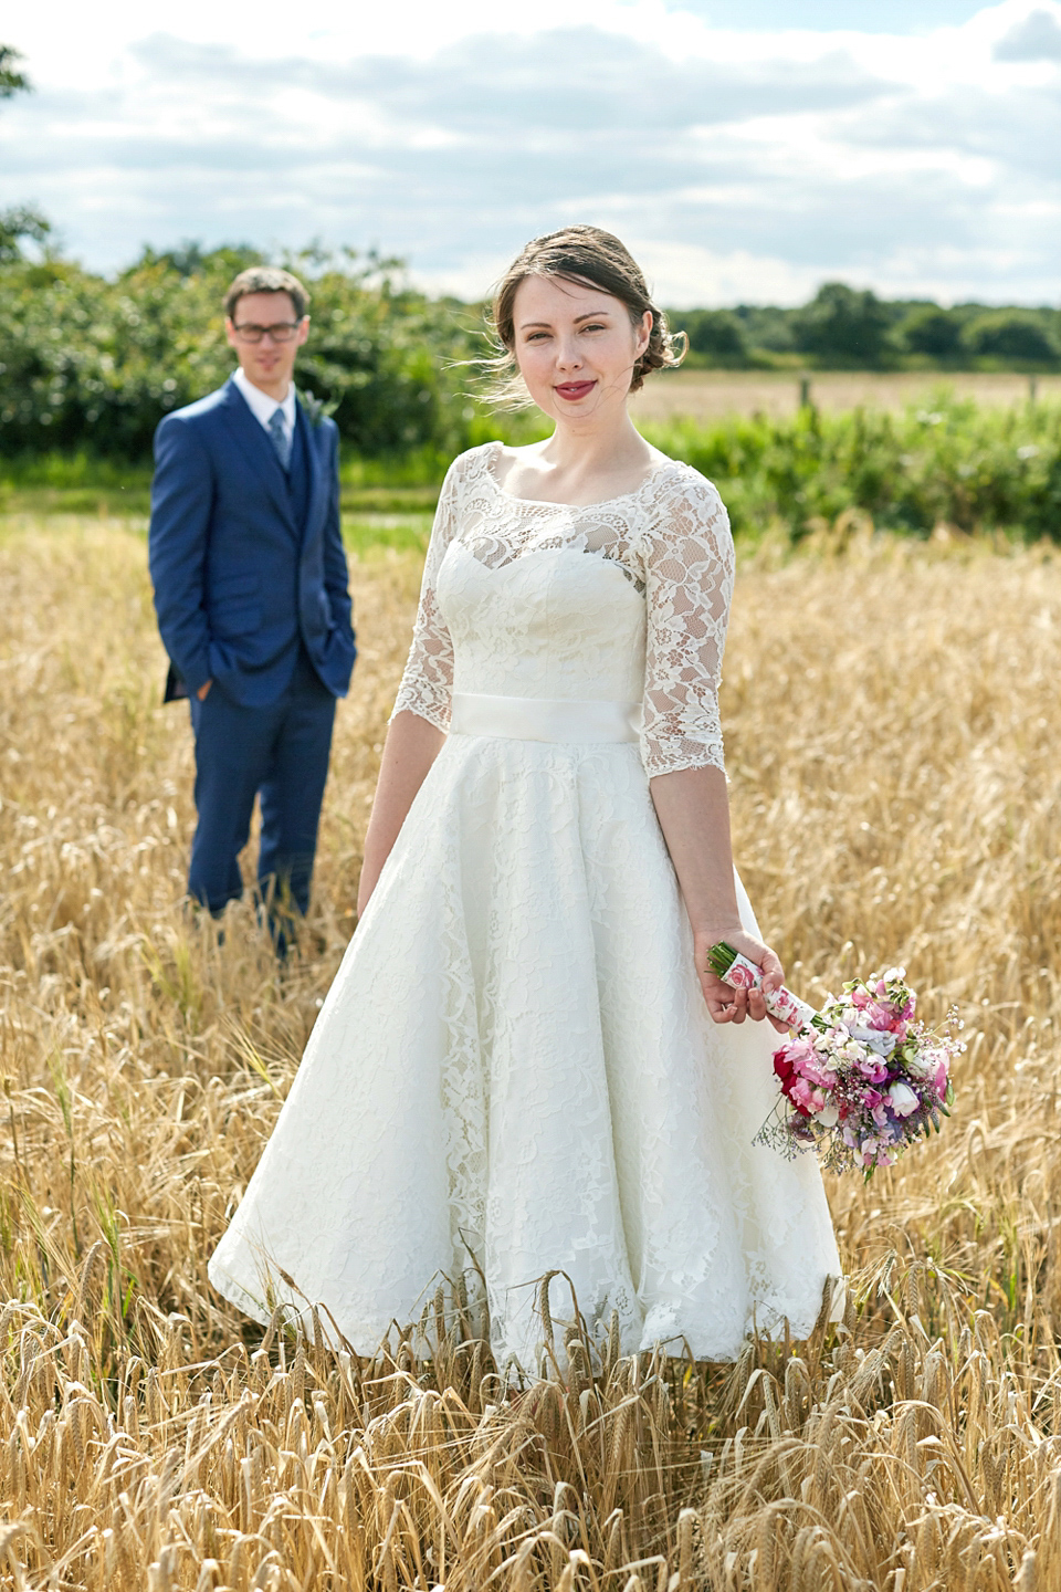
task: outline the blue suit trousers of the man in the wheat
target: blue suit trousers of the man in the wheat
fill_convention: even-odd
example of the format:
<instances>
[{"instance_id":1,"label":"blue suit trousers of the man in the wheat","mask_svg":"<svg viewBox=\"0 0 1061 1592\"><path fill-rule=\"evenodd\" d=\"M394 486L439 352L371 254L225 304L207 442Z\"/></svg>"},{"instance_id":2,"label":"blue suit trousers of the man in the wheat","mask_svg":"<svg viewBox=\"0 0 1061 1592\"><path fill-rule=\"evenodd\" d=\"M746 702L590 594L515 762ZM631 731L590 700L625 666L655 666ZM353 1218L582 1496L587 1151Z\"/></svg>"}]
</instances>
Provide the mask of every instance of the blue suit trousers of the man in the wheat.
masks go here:
<instances>
[{"instance_id":1,"label":"blue suit trousers of the man in the wheat","mask_svg":"<svg viewBox=\"0 0 1061 1592\"><path fill-rule=\"evenodd\" d=\"M290 907L307 911L334 720L336 699L302 646L291 683L267 707L240 707L216 681L205 700L191 697L199 823L188 893L215 917L243 893L239 855L258 794L258 888L274 933L285 939Z\"/></svg>"}]
</instances>

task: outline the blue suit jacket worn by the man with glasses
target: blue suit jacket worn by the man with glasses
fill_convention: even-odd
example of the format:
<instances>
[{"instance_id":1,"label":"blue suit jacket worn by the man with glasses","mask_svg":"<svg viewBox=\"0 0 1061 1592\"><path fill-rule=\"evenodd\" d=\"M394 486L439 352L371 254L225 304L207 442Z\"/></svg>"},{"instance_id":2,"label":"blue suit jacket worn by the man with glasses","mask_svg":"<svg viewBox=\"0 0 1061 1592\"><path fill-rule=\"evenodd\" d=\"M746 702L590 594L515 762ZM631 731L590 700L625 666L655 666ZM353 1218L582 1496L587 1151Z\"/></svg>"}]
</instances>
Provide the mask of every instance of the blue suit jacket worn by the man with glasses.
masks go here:
<instances>
[{"instance_id":1,"label":"blue suit jacket worn by the man with glasses","mask_svg":"<svg viewBox=\"0 0 1061 1592\"><path fill-rule=\"evenodd\" d=\"M148 559L170 656L167 699L215 680L245 707L288 686L299 642L332 696L356 648L339 535L339 431L297 404L309 465L297 524L288 478L239 387L167 414L154 433Z\"/></svg>"}]
</instances>

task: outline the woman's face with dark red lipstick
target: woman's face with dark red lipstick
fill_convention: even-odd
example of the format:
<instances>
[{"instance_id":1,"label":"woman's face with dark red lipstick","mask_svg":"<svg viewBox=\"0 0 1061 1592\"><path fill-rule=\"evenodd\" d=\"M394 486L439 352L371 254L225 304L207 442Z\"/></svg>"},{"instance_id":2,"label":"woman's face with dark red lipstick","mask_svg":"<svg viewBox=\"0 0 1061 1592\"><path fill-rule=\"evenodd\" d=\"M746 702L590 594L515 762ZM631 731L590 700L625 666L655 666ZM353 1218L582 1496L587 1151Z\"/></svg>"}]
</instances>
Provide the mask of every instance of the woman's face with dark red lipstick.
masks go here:
<instances>
[{"instance_id":1,"label":"woman's face with dark red lipstick","mask_svg":"<svg viewBox=\"0 0 1061 1592\"><path fill-rule=\"evenodd\" d=\"M538 408L555 420L598 420L625 406L652 315L646 310L633 325L611 293L558 277L527 277L515 293L512 325L512 352Z\"/></svg>"}]
</instances>

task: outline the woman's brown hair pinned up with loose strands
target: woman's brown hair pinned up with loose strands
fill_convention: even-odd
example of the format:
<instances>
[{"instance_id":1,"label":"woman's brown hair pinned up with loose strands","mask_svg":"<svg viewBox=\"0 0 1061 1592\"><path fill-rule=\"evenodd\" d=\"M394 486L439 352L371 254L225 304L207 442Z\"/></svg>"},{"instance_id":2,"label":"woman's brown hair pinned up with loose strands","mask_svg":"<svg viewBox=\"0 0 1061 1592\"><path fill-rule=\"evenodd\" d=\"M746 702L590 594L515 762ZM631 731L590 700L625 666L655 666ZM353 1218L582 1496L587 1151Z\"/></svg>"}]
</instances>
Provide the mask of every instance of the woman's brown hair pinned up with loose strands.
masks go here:
<instances>
[{"instance_id":1,"label":"woman's brown hair pinned up with loose strands","mask_svg":"<svg viewBox=\"0 0 1061 1592\"><path fill-rule=\"evenodd\" d=\"M649 371L670 369L686 357L686 333L667 330L667 315L655 307L644 274L617 237L600 226L565 226L560 232L534 237L501 277L488 314L495 358L485 360L492 380L487 398L499 408L515 409L530 403L515 361L515 295L528 277L558 277L584 288L600 288L627 306L630 325L639 326L646 310L652 315L649 345L633 366L630 392L636 393Z\"/></svg>"}]
</instances>

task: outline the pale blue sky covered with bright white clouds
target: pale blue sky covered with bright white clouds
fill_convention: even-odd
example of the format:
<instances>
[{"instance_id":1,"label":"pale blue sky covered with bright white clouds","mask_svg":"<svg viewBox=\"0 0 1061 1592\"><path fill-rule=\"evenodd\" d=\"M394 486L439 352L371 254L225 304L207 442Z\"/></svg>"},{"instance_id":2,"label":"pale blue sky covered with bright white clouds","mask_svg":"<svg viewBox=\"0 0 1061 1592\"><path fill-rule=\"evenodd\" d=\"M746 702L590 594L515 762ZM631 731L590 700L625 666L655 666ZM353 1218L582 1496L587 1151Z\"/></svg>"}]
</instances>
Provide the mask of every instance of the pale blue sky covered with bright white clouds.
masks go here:
<instances>
[{"instance_id":1,"label":"pale blue sky covered with bright white clouds","mask_svg":"<svg viewBox=\"0 0 1061 1592\"><path fill-rule=\"evenodd\" d=\"M54 0L0 24L0 205L92 269L310 240L482 296L617 232L659 298L1061 299L1061 0Z\"/></svg>"}]
</instances>

